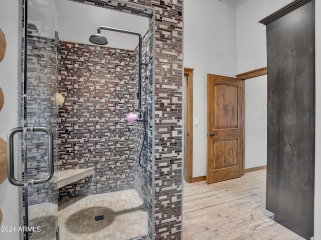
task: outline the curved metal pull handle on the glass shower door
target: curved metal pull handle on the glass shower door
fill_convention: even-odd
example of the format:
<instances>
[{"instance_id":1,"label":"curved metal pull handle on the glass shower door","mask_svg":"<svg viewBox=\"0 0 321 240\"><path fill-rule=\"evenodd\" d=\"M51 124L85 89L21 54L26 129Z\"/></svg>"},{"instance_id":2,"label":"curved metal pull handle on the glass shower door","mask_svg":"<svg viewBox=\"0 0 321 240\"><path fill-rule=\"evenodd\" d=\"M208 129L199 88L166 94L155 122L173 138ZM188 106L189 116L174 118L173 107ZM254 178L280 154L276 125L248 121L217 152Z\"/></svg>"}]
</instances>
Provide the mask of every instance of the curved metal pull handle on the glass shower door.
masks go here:
<instances>
[{"instance_id":1,"label":"curved metal pull handle on the glass shower door","mask_svg":"<svg viewBox=\"0 0 321 240\"><path fill-rule=\"evenodd\" d=\"M49 181L54 175L54 140L53 133L47 127L41 126L32 126L25 127L27 131L43 131L48 135L48 175L45 178L34 179L34 184L44 183ZM16 186L23 186L25 181L20 181L15 178L15 169L14 169L14 136L17 132L24 131L24 127L16 127L8 133L8 180L10 183Z\"/></svg>"}]
</instances>

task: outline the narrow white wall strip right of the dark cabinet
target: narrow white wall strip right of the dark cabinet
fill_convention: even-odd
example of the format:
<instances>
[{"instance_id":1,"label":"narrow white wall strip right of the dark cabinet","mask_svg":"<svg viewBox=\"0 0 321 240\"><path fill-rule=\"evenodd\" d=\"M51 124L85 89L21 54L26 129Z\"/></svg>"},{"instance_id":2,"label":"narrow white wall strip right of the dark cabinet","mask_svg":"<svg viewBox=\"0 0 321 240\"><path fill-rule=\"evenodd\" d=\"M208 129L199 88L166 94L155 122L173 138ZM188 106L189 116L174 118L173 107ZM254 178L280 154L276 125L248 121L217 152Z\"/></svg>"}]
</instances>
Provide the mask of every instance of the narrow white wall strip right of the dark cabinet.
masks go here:
<instances>
[{"instance_id":1,"label":"narrow white wall strip right of the dark cabinet","mask_svg":"<svg viewBox=\"0 0 321 240\"><path fill-rule=\"evenodd\" d=\"M321 240L321 2L315 0L315 180L314 240Z\"/></svg>"}]
</instances>

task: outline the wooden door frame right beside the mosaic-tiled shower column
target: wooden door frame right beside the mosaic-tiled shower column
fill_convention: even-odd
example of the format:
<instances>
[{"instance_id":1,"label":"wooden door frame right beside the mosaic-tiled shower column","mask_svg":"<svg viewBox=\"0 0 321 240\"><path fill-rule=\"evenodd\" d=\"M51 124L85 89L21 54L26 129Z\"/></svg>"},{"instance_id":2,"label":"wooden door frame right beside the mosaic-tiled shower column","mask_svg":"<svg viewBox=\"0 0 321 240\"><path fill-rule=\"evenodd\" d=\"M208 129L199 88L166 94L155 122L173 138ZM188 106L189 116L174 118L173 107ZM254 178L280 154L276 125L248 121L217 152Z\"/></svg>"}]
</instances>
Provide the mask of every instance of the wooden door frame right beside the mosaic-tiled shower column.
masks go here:
<instances>
[{"instance_id":1,"label":"wooden door frame right beside the mosaic-tiled shower column","mask_svg":"<svg viewBox=\"0 0 321 240\"><path fill-rule=\"evenodd\" d=\"M187 146L187 159L184 159L184 180L191 183L193 182L193 70L194 68L184 67L184 76L187 76L187 110L188 117L184 121L184 128L186 124L189 136L184 135L184 145ZM188 140L189 138L189 140Z\"/></svg>"}]
</instances>

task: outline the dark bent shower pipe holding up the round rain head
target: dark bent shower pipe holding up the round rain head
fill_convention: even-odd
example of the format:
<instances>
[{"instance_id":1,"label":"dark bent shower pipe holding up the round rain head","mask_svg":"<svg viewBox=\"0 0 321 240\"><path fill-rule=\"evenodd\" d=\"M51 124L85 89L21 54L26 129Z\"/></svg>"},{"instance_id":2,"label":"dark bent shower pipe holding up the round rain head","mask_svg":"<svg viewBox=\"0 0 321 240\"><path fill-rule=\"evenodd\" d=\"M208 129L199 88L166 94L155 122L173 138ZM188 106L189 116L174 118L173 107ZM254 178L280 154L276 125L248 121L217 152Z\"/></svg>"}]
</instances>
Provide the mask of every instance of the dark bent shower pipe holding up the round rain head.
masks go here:
<instances>
[{"instance_id":1,"label":"dark bent shower pipe holding up the round rain head","mask_svg":"<svg viewBox=\"0 0 321 240\"><path fill-rule=\"evenodd\" d=\"M131 35L136 35L139 37L139 46L138 46L138 109L137 111L142 111L141 109L141 34L138 32L134 31L127 31L119 28L114 28L114 27L109 27L109 26L98 26L97 32L100 34L100 30L108 30L108 31L116 31L116 32L121 32L121 33L126 33L126 34L131 34ZM147 64L144 64L147 65ZM147 93L148 94L148 93Z\"/></svg>"}]
</instances>

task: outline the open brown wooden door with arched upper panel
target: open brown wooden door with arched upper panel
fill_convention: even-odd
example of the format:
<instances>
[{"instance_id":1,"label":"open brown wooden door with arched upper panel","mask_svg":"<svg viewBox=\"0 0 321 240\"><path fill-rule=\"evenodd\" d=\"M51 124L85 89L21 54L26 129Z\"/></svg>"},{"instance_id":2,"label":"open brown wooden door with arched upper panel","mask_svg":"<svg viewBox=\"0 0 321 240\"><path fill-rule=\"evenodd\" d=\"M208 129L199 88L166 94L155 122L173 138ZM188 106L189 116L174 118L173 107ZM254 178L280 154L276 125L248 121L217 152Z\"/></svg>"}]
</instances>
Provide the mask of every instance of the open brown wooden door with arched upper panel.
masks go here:
<instances>
[{"instance_id":1,"label":"open brown wooden door with arched upper panel","mask_svg":"<svg viewBox=\"0 0 321 240\"><path fill-rule=\"evenodd\" d=\"M244 174L244 82L207 75L206 183Z\"/></svg>"}]
</instances>

